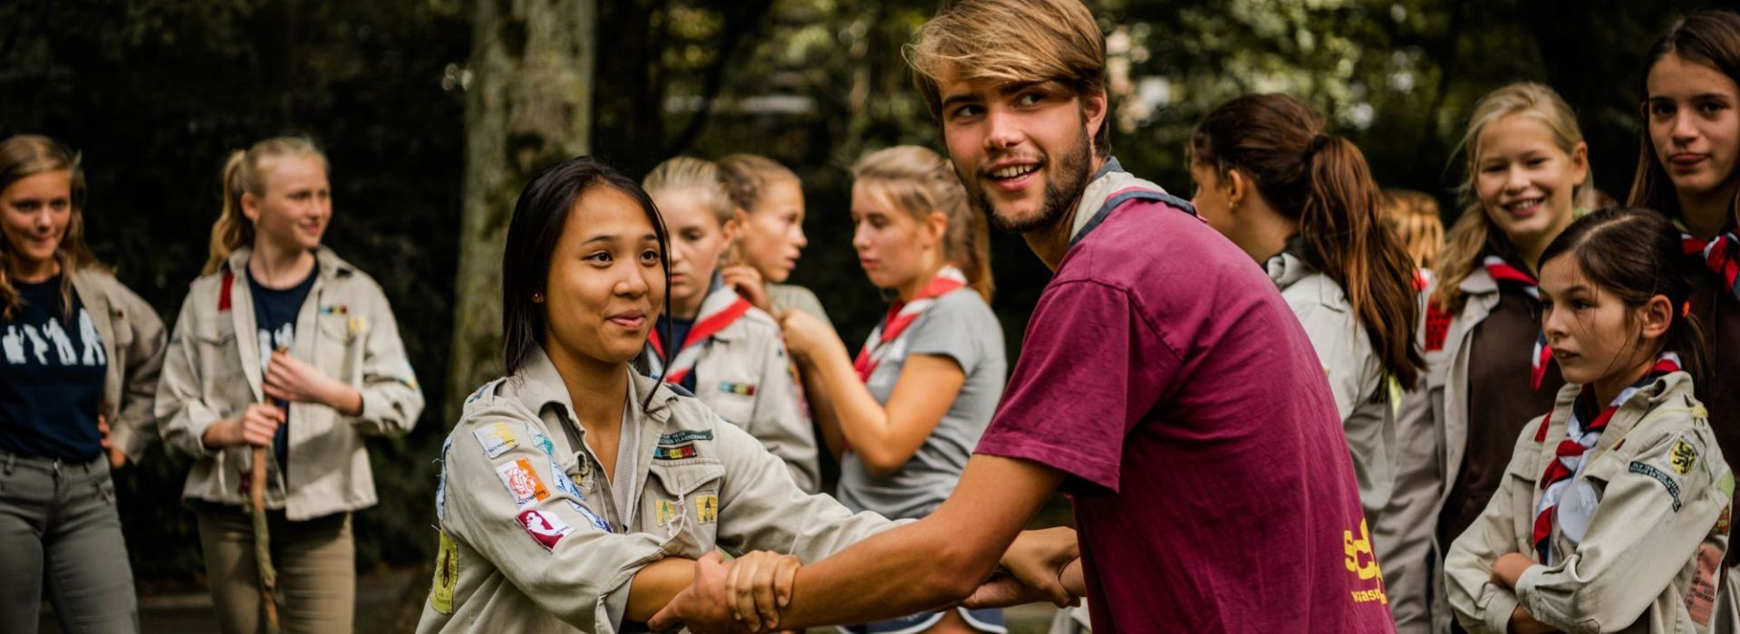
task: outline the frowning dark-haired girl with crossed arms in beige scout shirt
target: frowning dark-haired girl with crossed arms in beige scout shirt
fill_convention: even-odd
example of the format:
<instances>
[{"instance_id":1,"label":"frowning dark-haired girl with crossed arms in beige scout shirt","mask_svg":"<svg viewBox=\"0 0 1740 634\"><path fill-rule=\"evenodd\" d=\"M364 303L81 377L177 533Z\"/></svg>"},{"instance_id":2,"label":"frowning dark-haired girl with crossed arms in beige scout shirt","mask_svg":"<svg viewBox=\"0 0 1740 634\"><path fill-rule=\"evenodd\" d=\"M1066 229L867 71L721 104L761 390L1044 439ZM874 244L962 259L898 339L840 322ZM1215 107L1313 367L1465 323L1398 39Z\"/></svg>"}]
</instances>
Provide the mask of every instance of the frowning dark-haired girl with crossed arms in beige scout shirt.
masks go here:
<instances>
[{"instance_id":1,"label":"frowning dark-haired girl with crossed arms in beige scout shirt","mask_svg":"<svg viewBox=\"0 0 1740 634\"><path fill-rule=\"evenodd\" d=\"M1650 210L1590 214L1542 252L1566 386L1449 547L1470 632L1709 631L1733 474L1693 396L1707 368L1681 262L1679 231Z\"/></svg>"}]
</instances>

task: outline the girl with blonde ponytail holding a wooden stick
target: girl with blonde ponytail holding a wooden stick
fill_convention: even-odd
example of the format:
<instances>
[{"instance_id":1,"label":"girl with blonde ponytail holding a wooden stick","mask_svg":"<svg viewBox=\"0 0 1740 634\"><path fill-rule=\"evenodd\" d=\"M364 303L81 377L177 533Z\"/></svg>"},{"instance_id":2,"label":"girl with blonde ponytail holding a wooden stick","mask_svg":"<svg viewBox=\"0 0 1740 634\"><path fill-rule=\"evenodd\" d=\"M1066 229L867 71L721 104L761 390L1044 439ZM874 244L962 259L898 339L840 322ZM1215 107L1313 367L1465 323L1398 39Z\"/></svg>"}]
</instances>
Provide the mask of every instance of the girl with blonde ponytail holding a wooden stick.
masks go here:
<instances>
[{"instance_id":1,"label":"girl with blonde ponytail holding a wooden stick","mask_svg":"<svg viewBox=\"0 0 1740 634\"><path fill-rule=\"evenodd\" d=\"M211 257L164 363L157 415L197 459L183 499L223 632L258 631L271 599L247 511L256 474L284 627L351 627L350 514L374 505L364 436L402 436L423 412L381 287L320 245L331 219L327 160L308 139L230 155Z\"/></svg>"}]
</instances>

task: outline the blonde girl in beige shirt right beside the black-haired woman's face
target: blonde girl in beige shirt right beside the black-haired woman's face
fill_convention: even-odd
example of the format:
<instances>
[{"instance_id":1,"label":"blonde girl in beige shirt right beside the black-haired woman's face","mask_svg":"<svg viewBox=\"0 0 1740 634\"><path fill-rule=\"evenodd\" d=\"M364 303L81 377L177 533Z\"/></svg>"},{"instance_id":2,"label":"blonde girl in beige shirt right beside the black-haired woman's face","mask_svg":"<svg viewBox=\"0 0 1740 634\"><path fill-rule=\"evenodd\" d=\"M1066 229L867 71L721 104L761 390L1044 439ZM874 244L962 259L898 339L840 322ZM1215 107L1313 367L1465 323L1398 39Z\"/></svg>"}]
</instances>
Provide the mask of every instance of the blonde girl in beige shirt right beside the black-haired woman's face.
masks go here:
<instances>
[{"instance_id":1,"label":"blonde girl in beige shirt right beside the black-haired woman's face","mask_svg":"<svg viewBox=\"0 0 1740 634\"><path fill-rule=\"evenodd\" d=\"M741 228L719 167L677 156L654 167L642 186L670 231L670 332L649 339L652 373L663 368L665 382L760 439L799 488L818 492L816 434L799 405L780 325L719 274Z\"/></svg>"}]
</instances>

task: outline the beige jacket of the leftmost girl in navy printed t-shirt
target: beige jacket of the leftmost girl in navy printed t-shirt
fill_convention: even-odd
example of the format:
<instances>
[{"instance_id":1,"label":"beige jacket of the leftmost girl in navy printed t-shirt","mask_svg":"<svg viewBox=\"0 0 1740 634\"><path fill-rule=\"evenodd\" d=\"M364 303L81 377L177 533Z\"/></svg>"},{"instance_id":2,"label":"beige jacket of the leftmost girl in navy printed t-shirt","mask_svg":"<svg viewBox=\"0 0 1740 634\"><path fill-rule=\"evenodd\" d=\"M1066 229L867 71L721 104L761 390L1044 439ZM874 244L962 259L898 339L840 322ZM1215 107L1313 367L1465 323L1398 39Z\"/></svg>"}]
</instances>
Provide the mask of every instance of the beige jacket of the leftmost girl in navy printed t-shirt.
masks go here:
<instances>
[{"instance_id":1,"label":"beige jacket of the leftmost girl in navy printed t-shirt","mask_svg":"<svg viewBox=\"0 0 1740 634\"><path fill-rule=\"evenodd\" d=\"M127 453L127 460L139 462L157 441L151 403L164 367L164 321L151 304L97 267L73 273L73 292L90 314L108 358L103 415L110 424L110 441Z\"/></svg>"}]
</instances>

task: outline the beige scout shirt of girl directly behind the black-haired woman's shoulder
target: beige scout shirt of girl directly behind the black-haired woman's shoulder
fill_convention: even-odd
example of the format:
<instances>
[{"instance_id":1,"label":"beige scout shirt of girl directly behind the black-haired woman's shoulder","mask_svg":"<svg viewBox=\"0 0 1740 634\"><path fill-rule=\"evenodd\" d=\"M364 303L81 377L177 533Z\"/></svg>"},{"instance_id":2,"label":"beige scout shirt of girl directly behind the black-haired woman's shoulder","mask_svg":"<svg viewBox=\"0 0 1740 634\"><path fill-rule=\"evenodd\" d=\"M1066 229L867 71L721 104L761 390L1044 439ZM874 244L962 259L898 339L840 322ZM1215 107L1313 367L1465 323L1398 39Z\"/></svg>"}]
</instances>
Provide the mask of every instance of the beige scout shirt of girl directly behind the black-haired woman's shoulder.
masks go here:
<instances>
[{"instance_id":1,"label":"beige scout shirt of girl directly behind the black-haired woman's shoulder","mask_svg":"<svg viewBox=\"0 0 1740 634\"><path fill-rule=\"evenodd\" d=\"M759 307L713 334L694 367L694 396L785 460L806 493L821 490L816 433L799 403L780 323Z\"/></svg>"}]
</instances>

